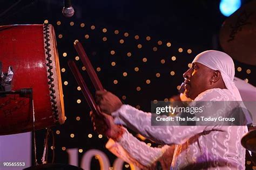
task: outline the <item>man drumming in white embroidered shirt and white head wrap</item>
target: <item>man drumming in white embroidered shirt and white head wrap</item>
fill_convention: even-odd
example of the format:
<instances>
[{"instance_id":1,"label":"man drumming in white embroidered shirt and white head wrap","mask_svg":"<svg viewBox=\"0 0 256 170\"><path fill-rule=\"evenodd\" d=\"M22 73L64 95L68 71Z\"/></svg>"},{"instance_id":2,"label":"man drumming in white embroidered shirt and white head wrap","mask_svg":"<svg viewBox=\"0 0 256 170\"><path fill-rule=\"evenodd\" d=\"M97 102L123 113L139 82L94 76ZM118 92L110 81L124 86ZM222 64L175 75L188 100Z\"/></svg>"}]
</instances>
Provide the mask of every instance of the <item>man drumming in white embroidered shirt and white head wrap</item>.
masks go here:
<instances>
[{"instance_id":1,"label":"man drumming in white embroidered shirt and white head wrap","mask_svg":"<svg viewBox=\"0 0 256 170\"><path fill-rule=\"evenodd\" d=\"M211 50L198 54L183 76L185 94L194 101L242 101L233 83L234 63L226 53ZM122 104L117 96L97 91L97 98L100 109L112 115L114 123L158 143L176 144L171 169L245 169L245 149L240 140L247 132L246 126L151 126L151 114ZM220 108L215 109L218 112ZM107 119L113 121L111 117ZM145 151L134 145L126 129L113 125L107 134L140 164L161 155L161 151Z\"/></svg>"}]
</instances>

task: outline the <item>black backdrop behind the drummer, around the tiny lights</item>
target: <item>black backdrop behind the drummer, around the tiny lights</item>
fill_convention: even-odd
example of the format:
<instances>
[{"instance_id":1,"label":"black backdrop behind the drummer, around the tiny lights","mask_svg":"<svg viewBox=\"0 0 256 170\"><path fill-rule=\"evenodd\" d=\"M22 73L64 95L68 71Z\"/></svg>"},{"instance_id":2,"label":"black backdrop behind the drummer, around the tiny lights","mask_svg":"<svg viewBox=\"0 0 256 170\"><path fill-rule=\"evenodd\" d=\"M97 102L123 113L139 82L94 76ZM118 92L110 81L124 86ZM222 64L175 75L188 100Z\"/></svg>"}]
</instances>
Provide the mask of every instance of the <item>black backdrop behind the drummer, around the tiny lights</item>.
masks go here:
<instances>
[{"instance_id":1,"label":"black backdrop behind the drummer, around the tiny lights","mask_svg":"<svg viewBox=\"0 0 256 170\"><path fill-rule=\"evenodd\" d=\"M62 15L63 1L28 1L23 0L17 3L13 9L6 11L17 0L1 0L0 25L11 24L43 24L48 20L55 28L60 67L65 68L62 72L66 122L64 125L53 127L56 132L55 162L68 163L68 154L62 147L83 149L79 153L79 163L82 155L91 148L104 151L109 157L111 164L114 155L104 148L107 141L105 137L98 138L98 134L93 132L89 117L89 107L84 100L82 92L77 90L77 83L73 78L68 65L68 60L75 60L78 55L73 48L73 41L78 39L82 42L92 65L100 68L97 72L105 89L112 91L118 97L126 96L124 103L150 111L152 100L164 100L178 94L177 86L183 82L183 73L188 69L188 63L192 62L194 56L207 49L218 49L219 30L221 24L226 19L220 13L219 2L212 0L194 1L72 1L75 15L65 18ZM245 4L250 1L242 1ZM60 21L60 25L57 22ZM73 22L73 25L70 24ZM80 24L85 26L81 27ZM71 26L72 25L72 26ZM92 30L91 26L95 29ZM103 32L103 29L107 32ZM118 30L118 34L114 34ZM129 33L128 37L124 33ZM62 34L62 38L59 38ZM85 35L89 38L86 39ZM138 35L139 39L134 39ZM150 40L146 37L150 36ZM107 40L103 41L103 37ZM119 40L123 39L124 44ZM158 41L162 44L159 45ZM171 42L171 47L167 47L167 42ZM142 48L137 45L141 44ZM153 51L157 47L157 51ZM183 52L178 49L182 48ZM187 53L191 49L192 53ZM115 54L111 55L110 52ZM130 52L132 55L127 56ZM67 53L67 56L63 56ZM171 57L176 56L172 61ZM246 56L243 56L246 57ZM147 62L143 62L147 58ZM161 60L165 63L161 63ZM76 61L76 60L75 60ZM116 62L116 66L111 66L111 62ZM83 73L86 82L91 88L91 83L82 70L82 62L76 61L80 72ZM134 67L139 67L135 72ZM237 68L241 67L241 72ZM256 85L252 79L255 73L255 66L245 65L235 61L235 76L240 79L248 79L248 82ZM246 70L250 69L251 74ZM170 72L174 71L172 76ZM123 76L123 72L127 76ZM160 77L156 77L160 73ZM118 83L114 84L113 81ZM146 83L150 80L150 84ZM141 90L137 91L136 88ZM92 89L92 88L91 88ZM94 91L92 89L92 91ZM82 102L77 103L80 99ZM76 117L80 117L77 121ZM41 158L43 151L43 138L45 130L37 132L38 157ZM75 134L71 138L70 134ZM88 137L92 134L92 138ZM147 143L151 141L146 141ZM153 144L153 146L157 146ZM51 158L51 153L49 155ZM98 169L96 159L92 160L93 169Z\"/></svg>"}]
</instances>

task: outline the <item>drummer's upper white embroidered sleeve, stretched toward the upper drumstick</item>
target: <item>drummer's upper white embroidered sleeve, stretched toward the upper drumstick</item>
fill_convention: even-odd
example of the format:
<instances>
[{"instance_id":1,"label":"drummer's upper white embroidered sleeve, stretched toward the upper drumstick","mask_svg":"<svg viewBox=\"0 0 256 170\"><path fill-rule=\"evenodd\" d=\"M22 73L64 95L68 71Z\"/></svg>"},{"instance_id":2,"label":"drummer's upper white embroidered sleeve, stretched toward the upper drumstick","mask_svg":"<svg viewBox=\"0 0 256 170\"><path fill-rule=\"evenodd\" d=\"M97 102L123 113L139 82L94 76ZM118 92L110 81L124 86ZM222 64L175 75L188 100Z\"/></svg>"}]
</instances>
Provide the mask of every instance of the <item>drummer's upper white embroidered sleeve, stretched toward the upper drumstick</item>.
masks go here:
<instances>
[{"instance_id":1,"label":"drummer's upper white embroidered sleeve, stretched toward the upper drumstick","mask_svg":"<svg viewBox=\"0 0 256 170\"><path fill-rule=\"evenodd\" d=\"M188 138L201 133L206 126L151 126L151 113L130 105L122 105L112 113L114 123L122 124L160 144L183 144Z\"/></svg>"}]
</instances>

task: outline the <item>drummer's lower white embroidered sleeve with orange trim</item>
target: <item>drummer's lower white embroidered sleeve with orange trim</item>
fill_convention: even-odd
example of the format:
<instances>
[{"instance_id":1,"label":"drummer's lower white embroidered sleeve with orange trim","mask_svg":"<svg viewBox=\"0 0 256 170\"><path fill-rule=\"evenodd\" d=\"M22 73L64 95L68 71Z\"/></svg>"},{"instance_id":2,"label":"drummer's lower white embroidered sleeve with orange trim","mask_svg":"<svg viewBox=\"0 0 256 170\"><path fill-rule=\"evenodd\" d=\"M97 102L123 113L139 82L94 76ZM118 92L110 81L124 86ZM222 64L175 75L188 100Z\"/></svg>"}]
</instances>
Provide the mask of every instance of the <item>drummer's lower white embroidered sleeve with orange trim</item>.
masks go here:
<instances>
[{"instance_id":1,"label":"drummer's lower white embroidered sleeve with orange trim","mask_svg":"<svg viewBox=\"0 0 256 170\"><path fill-rule=\"evenodd\" d=\"M125 129L122 138L118 142L109 140L106 148L126 162L138 167L141 167L141 165L149 167L163 155L169 146L165 145L161 148L150 147L143 141L139 141Z\"/></svg>"}]
</instances>

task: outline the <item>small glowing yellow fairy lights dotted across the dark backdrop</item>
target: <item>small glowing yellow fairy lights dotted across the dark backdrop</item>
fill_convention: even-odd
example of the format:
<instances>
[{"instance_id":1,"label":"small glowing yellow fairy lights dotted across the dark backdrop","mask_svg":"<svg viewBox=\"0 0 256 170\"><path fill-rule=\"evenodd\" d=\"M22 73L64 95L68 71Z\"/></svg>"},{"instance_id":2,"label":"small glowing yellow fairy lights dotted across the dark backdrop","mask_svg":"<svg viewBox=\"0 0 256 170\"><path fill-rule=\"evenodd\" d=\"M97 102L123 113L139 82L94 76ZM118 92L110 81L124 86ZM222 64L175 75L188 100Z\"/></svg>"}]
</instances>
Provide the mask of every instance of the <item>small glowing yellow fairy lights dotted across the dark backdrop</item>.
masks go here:
<instances>
[{"instance_id":1,"label":"small glowing yellow fairy lights dotted across the dark backdrop","mask_svg":"<svg viewBox=\"0 0 256 170\"><path fill-rule=\"evenodd\" d=\"M44 23L45 23L45 24L48 23L48 20L45 20ZM60 22L60 21L57 21L57 22L56 22L56 26L61 26L61 25L62 25L62 22ZM75 23L74 23L74 22L70 22L69 25L70 25L70 26L74 26ZM144 40L146 40L147 42L149 42L149 43L151 43L151 44L154 44L152 48L149 48L149 47L146 47L146 45L145 45L145 44L142 44L141 42L136 42L136 45L135 45L135 46L137 47L137 50L142 50L142 49L144 49L144 50L147 50L147 51L152 51L152 53L154 53L154 52L159 51L159 50L160 50L160 49L159 49L160 47L161 47L161 48L163 48L163 47L164 47L164 48L172 48L172 46L173 46L170 41L164 42L164 41L162 41L162 40L157 40L156 42L153 42L153 41L152 41L152 37L150 37L150 36L144 37L144 36L139 36L139 35L137 35L137 34L134 35L134 36L131 36L131 35L129 34L129 32L124 32L124 33L122 34L122 33L121 33L122 31L120 31L120 30L112 30L112 31L110 31L110 29L107 29L106 27L103 27L102 29L96 29L96 28L97 28L96 25L88 25L88 26L87 26L85 23L80 23L80 24L79 24L79 27L80 27L81 29L83 29L84 27L88 27L88 28L90 28L91 31L95 31L95 34L97 34L97 33L113 32L113 33L116 34L116 35L121 35L121 36L122 36L121 38L118 37L118 38L116 39L116 41L117 41L120 45L125 44L126 41L128 41L127 38L132 38L132 39L134 39L134 40L144 39ZM65 35L63 35L63 34L57 34L57 38L58 38L58 39L63 39L64 36L65 36ZM92 36L91 36L89 33L86 32L86 34L84 35L83 38L84 38L85 40L90 40L91 37L92 37ZM104 35L104 36L102 37L102 39L100 39L100 41L108 42L109 39L110 39L109 37L107 37L107 36ZM57 40L57 41L58 41L58 40ZM128 41L128 42L129 42L129 41ZM130 44L129 44L129 45L130 45ZM134 46L134 44L131 44L131 46ZM145 48L146 48L146 49L145 49ZM190 49L190 48L184 49L184 48L179 47L178 49L174 49L174 50L176 50L178 54L186 53L187 55L191 55L191 57L194 56L194 54L192 53L192 49ZM118 50L112 48L112 49L109 49L109 54L110 54L111 56L115 56L115 55L118 55L118 52L119 52L119 51L122 51L122 48L119 48ZM134 54L133 51L128 51L128 52L123 51L123 52L125 53L125 55L122 55L122 56L121 56L122 58L130 58L130 59L131 59L131 58L136 58L136 57L137 57L137 56ZM67 56L69 56L69 54L68 54L67 52L63 52L63 53L59 54L59 56L62 56L63 58L66 58ZM73 56L73 57L74 57L74 59L75 59L76 61L79 61L79 60L80 60L79 56ZM178 58L177 55L172 55L172 56L170 56L168 59L166 59L166 58L160 58L158 62L159 62L159 65L162 65L162 66L164 66L164 65L166 64L166 62L173 62L173 64L175 64L175 61L177 60L177 58ZM142 63L147 63L149 60L150 60L149 57L144 56L142 59L140 59L140 62L142 62ZM123 61L123 62L125 62L125 61ZM112 60L112 61L109 63L110 69L111 69L111 68L114 68L114 67L117 67L118 64L119 64L119 63L118 63L117 61ZM188 64L187 64L187 67L188 67L188 68L191 68L191 66L192 66L192 63L188 63ZM84 66L82 66L81 69L82 69L83 71L86 70L86 68L85 68ZM63 67L63 68L60 68L60 70L61 70L62 74L64 74L64 73L66 72L67 68L64 68L64 67ZM237 66L236 70L237 70L237 72L242 72L242 71L245 70L246 74L251 74L251 69L242 69L240 66ZM141 68L137 65L136 62L134 62L133 70L130 70L130 71L127 71L127 70L126 70L126 71L124 71L124 72L121 72L121 73L120 73L120 76L128 77L128 79L132 79L132 77L129 77L129 74L131 74L131 72L133 72L133 73L139 73L140 71L141 71ZM100 72L102 72L102 68L99 67L99 66L96 67L96 72L99 74ZM151 84L153 77L160 78L160 77L161 77L161 74L162 74L162 73L160 73L160 72L156 72L156 73L154 73L154 74L149 75L149 76L147 77L147 79L144 81L145 86L149 86L149 84ZM176 75L176 70L170 70L170 71L169 71L169 75L170 75L170 76L175 76L175 75ZM246 78L245 81L248 83L249 80ZM67 80L63 80L63 84L64 84L64 86L68 86L68 85L69 85L69 82L68 82ZM112 84L113 84L113 86L118 86L118 85L119 85L119 86L122 86L122 81L119 81L118 78L114 78L114 79L112 80ZM135 90L135 91L141 91L142 89L143 89L142 86L137 86L134 90ZM179 86L179 85L177 85L177 89L178 89L178 90L180 89L180 86ZM81 88L78 86L78 87L77 87L77 90L80 91ZM126 100L127 95L122 95L120 98L122 98L122 100ZM165 102L169 101L169 98L164 98L164 101L165 101ZM76 100L76 102L77 102L77 104L80 104L80 103L83 103L83 100L82 100L81 98L78 98L78 99ZM158 100L153 100L153 102L154 102L154 103L157 103ZM140 109L141 107L140 107L140 105L136 105L136 108L137 108L137 109ZM67 119L67 118L65 117L65 119ZM80 120L81 120L81 117L76 116L75 119L76 119L76 121L80 121ZM60 134L60 130L56 130L56 134L59 135L59 134ZM70 138L75 138L75 137L76 137L76 134L75 134L75 133L70 133L69 135L70 135ZM92 137L93 137L93 134L92 134L92 133L87 134L87 138L92 138ZM99 139L103 138L102 134L98 134L98 136L96 136L96 137L99 138ZM142 139L142 140L145 140L142 136L138 136L138 137L139 137L140 139ZM147 145L148 145L148 146L151 146L151 143L147 143ZM51 147L51 148L53 149L53 147ZM63 146L63 147L61 148L61 150L62 150L62 151L65 151L65 150L66 150L66 147ZM83 148L79 148L78 152L79 152L79 153L83 153L83 152L84 152ZM98 159L97 156L95 157L95 159ZM126 164L125 167L128 168L129 165ZM112 167L110 167L110 169L111 169L111 168L112 168Z\"/></svg>"}]
</instances>

